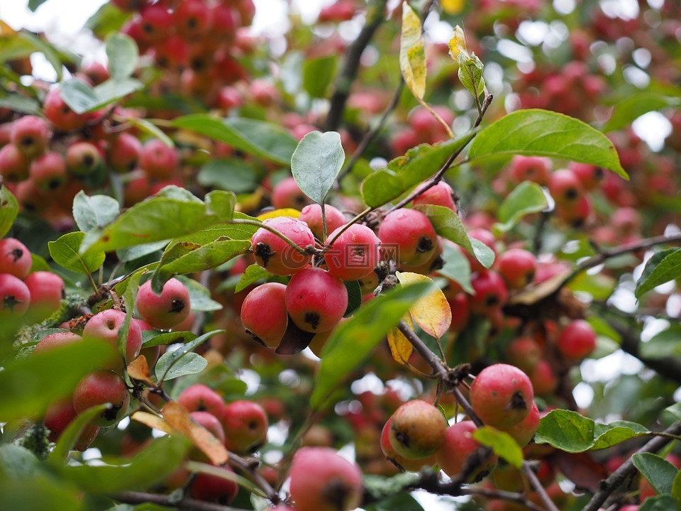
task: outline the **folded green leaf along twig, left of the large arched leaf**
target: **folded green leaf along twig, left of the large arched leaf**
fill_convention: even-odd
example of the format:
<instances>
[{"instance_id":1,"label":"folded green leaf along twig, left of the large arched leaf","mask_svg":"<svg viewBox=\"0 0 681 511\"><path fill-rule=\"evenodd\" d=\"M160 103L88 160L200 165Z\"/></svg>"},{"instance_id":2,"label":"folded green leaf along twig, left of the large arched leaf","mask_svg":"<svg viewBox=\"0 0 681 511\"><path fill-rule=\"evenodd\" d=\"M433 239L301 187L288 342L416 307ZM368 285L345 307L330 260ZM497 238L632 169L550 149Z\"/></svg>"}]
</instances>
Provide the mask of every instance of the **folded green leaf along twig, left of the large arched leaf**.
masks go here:
<instances>
[{"instance_id":1,"label":"folded green leaf along twig, left of the large arched leaf","mask_svg":"<svg viewBox=\"0 0 681 511\"><path fill-rule=\"evenodd\" d=\"M376 170L362 181L362 200L380 207L434 175L447 159L469 143L474 133L433 145L421 144L395 158L388 167Z\"/></svg>"}]
</instances>

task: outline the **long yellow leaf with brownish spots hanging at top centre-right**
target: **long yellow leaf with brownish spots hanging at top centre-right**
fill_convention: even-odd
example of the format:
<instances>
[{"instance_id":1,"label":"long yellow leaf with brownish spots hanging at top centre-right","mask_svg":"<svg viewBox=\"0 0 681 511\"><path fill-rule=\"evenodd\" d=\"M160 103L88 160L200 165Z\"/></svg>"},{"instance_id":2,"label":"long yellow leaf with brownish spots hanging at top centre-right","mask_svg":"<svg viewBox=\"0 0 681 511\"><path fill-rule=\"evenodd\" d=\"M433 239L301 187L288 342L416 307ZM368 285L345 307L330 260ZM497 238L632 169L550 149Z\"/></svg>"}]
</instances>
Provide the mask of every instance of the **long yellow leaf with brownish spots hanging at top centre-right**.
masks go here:
<instances>
[{"instance_id":1,"label":"long yellow leaf with brownish spots hanging at top centre-right","mask_svg":"<svg viewBox=\"0 0 681 511\"><path fill-rule=\"evenodd\" d=\"M423 94L426 94L426 51L423 49L421 20L406 1L402 4L399 70L411 94L416 99L423 99Z\"/></svg>"}]
</instances>

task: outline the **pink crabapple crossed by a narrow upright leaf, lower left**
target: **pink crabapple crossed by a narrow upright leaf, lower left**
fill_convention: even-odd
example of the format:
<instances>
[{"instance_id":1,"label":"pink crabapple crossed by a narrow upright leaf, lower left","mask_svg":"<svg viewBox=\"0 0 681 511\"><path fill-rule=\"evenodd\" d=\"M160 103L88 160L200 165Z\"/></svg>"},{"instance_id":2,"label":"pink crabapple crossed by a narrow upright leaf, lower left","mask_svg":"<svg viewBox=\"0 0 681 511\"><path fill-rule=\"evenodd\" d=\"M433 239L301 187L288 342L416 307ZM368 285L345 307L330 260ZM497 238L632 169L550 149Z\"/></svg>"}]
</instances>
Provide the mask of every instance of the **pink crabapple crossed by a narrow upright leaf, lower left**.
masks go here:
<instances>
[{"instance_id":1,"label":"pink crabapple crossed by a narrow upright leaf, lower left","mask_svg":"<svg viewBox=\"0 0 681 511\"><path fill-rule=\"evenodd\" d=\"M99 339L106 341L114 348L118 348L118 333L126 321L126 313L116 309L107 309L95 314L89 319L83 329L83 339ZM130 322L128 339L126 339L125 364L131 363L140 354L142 348L142 330L135 322ZM118 351L116 349L116 351ZM123 365L121 358L115 356L106 363L105 369L120 369Z\"/></svg>"}]
</instances>

